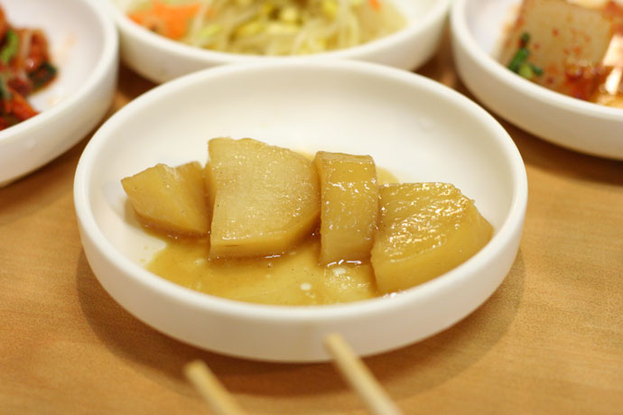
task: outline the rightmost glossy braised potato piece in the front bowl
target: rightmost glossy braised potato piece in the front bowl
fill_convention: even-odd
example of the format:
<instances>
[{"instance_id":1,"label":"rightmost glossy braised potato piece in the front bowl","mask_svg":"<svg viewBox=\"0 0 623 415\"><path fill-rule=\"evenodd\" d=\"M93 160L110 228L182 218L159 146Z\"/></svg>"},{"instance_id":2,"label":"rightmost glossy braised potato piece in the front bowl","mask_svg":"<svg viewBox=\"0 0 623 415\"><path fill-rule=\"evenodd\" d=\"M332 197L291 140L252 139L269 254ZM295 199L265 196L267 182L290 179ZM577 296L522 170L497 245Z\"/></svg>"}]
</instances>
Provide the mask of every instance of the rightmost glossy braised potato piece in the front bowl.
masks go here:
<instances>
[{"instance_id":1,"label":"rightmost glossy braised potato piece in the front bowl","mask_svg":"<svg viewBox=\"0 0 623 415\"><path fill-rule=\"evenodd\" d=\"M473 200L451 184L390 184L379 194L370 258L379 291L404 290L448 272L491 238L492 227Z\"/></svg>"}]
</instances>

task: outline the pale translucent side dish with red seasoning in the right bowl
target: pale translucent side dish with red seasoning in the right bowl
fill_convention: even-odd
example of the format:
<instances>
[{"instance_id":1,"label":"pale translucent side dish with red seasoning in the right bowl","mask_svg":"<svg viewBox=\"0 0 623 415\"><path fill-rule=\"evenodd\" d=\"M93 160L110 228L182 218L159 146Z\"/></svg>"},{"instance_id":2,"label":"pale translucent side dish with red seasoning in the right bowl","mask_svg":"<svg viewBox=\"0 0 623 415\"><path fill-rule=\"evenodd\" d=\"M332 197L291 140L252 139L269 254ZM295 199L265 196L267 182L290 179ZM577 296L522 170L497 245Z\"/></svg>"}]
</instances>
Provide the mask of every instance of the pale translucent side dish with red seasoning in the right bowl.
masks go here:
<instances>
[{"instance_id":1,"label":"pale translucent side dish with red seasoning in the right bowl","mask_svg":"<svg viewBox=\"0 0 623 415\"><path fill-rule=\"evenodd\" d=\"M524 0L500 62L545 88L623 108L623 6Z\"/></svg>"}]
</instances>

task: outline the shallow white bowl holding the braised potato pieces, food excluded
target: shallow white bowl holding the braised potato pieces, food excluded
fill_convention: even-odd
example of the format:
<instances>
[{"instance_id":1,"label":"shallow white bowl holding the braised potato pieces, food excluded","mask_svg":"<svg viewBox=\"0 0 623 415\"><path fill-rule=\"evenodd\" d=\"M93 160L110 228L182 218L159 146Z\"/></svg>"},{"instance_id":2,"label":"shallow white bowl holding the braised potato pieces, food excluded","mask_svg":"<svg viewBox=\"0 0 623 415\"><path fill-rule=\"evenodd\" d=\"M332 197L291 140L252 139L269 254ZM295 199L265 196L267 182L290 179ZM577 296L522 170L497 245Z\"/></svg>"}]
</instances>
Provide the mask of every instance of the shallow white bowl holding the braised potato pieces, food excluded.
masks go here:
<instances>
[{"instance_id":1,"label":"shallow white bowl holding the braised potato pieces, food excluded","mask_svg":"<svg viewBox=\"0 0 623 415\"><path fill-rule=\"evenodd\" d=\"M297 308L182 288L144 269L163 243L126 217L119 180L158 162L205 162L207 141L222 135L367 153L399 180L449 181L476 200L495 235L467 263L393 298ZM119 304L191 345L273 361L327 359L330 332L370 355L464 318L507 275L527 198L523 161L487 112L430 79L349 60L228 65L155 88L95 134L74 186L88 263Z\"/></svg>"}]
</instances>

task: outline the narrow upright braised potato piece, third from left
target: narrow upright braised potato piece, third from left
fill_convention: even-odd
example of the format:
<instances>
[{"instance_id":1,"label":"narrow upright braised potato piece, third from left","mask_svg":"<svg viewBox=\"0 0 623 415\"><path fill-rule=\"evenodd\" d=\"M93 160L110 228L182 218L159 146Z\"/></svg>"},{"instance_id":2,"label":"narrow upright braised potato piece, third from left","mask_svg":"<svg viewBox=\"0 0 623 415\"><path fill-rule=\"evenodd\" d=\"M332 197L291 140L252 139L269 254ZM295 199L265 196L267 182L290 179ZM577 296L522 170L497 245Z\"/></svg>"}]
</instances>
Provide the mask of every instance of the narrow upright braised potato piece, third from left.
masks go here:
<instances>
[{"instance_id":1,"label":"narrow upright braised potato piece, third from left","mask_svg":"<svg viewBox=\"0 0 623 415\"><path fill-rule=\"evenodd\" d=\"M321 263L362 261L377 229L377 168L370 156L318 152Z\"/></svg>"}]
</instances>

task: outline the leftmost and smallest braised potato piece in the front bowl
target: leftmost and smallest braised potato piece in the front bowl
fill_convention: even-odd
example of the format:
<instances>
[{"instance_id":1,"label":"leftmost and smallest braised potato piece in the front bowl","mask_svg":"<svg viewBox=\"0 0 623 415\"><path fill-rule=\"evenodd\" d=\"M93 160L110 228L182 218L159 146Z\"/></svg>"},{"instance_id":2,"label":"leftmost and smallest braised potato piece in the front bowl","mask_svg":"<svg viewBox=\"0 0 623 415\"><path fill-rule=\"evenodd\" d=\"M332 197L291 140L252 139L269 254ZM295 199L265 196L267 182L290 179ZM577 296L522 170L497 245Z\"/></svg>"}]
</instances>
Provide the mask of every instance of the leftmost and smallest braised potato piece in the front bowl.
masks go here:
<instances>
[{"instance_id":1,"label":"leftmost and smallest braised potato piece in the front bowl","mask_svg":"<svg viewBox=\"0 0 623 415\"><path fill-rule=\"evenodd\" d=\"M157 164L121 180L144 226L170 235L206 235L209 207L198 162L172 168Z\"/></svg>"}]
</instances>

